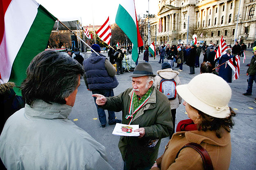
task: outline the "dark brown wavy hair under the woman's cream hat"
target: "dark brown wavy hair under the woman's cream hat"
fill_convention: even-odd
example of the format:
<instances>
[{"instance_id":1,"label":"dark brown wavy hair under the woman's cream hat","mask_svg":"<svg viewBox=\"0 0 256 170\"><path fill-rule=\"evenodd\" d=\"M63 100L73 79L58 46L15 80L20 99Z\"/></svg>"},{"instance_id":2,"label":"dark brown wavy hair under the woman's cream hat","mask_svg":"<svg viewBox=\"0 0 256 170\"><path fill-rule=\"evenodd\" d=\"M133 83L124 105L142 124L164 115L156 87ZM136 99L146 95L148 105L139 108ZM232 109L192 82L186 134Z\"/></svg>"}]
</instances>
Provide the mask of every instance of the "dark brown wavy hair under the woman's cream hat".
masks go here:
<instances>
[{"instance_id":1,"label":"dark brown wavy hair under the woman's cream hat","mask_svg":"<svg viewBox=\"0 0 256 170\"><path fill-rule=\"evenodd\" d=\"M190 107L194 108L193 106L190 106ZM194 109L198 111L200 118L201 118L201 123L197 124L198 130L215 131L216 136L218 138L221 138L222 134L223 134L223 131L222 131L223 129L230 132L230 129L234 126L232 117L236 116L236 113L232 110L231 107L229 107L230 115L229 115L229 117L226 117L226 118L212 117L210 115L203 113L202 111L200 111L196 108L194 108Z\"/></svg>"}]
</instances>

